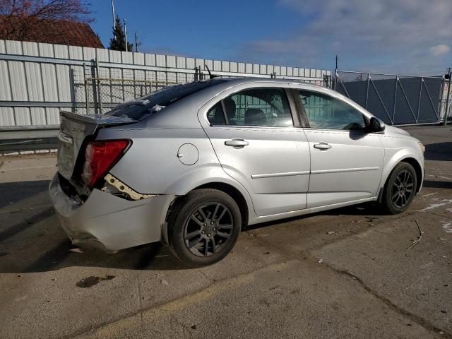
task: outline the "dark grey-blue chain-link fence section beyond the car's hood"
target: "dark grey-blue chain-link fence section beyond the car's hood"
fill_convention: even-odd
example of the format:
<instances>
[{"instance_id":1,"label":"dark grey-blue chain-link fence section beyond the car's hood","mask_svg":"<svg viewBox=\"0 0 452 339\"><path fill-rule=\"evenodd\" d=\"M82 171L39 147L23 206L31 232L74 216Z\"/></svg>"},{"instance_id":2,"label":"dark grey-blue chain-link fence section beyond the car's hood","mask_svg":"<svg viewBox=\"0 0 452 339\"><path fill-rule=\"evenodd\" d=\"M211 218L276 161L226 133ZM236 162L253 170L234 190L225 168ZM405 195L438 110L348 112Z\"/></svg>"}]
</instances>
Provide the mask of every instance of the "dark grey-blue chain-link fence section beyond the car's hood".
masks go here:
<instances>
[{"instance_id":1,"label":"dark grey-blue chain-link fence section beyond the car's hood","mask_svg":"<svg viewBox=\"0 0 452 339\"><path fill-rule=\"evenodd\" d=\"M444 77L336 71L333 88L386 124L431 124L444 117Z\"/></svg>"}]
</instances>

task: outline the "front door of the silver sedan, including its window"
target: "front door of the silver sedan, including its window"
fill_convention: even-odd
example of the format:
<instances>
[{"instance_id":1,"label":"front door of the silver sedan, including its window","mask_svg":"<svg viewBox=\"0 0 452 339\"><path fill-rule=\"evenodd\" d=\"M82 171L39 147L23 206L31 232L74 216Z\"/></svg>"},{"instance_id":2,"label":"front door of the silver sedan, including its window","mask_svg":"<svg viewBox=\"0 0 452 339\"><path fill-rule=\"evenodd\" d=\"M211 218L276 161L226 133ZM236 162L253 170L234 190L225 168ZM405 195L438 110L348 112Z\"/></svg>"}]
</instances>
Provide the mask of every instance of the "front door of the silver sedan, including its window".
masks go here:
<instances>
[{"instance_id":1,"label":"front door of the silver sedan, including its window","mask_svg":"<svg viewBox=\"0 0 452 339\"><path fill-rule=\"evenodd\" d=\"M378 194L384 149L367 133L366 117L325 90L295 90L311 151L307 208L359 201Z\"/></svg>"}]
</instances>

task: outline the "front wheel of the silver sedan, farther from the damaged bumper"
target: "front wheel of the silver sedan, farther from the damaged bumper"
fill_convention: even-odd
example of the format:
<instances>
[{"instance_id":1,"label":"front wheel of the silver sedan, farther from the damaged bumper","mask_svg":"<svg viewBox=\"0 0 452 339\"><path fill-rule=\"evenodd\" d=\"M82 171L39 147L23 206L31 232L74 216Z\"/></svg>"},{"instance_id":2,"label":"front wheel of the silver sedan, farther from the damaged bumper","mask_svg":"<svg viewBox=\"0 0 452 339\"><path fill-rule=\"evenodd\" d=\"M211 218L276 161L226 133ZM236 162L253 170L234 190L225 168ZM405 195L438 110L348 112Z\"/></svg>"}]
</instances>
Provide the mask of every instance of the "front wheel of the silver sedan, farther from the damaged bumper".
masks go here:
<instances>
[{"instance_id":1,"label":"front wheel of the silver sedan, farther from the damaged bumper","mask_svg":"<svg viewBox=\"0 0 452 339\"><path fill-rule=\"evenodd\" d=\"M387 213L402 213L410 206L417 191L416 171L408 162L399 162L388 177L381 207Z\"/></svg>"}]
</instances>

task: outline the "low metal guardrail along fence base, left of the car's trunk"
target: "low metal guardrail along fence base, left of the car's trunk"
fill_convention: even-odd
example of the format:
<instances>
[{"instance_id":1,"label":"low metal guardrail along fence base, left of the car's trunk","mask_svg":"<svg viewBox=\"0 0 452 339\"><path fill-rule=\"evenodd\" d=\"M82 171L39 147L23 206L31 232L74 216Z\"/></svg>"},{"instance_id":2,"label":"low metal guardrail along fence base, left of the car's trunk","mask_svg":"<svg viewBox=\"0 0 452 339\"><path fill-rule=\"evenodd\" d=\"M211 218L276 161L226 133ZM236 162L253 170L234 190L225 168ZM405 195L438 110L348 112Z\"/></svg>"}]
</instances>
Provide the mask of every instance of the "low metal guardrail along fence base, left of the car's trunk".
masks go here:
<instances>
[{"instance_id":1,"label":"low metal guardrail along fence base, left of the car's trunk","mask_svg":"<svg viewBox=\"0 0 452 339\"><path fill-rule=\"evenodd\" d=\"M59 125L0 126L0 153L57 148Z\"/></svg>"}]
</instances>

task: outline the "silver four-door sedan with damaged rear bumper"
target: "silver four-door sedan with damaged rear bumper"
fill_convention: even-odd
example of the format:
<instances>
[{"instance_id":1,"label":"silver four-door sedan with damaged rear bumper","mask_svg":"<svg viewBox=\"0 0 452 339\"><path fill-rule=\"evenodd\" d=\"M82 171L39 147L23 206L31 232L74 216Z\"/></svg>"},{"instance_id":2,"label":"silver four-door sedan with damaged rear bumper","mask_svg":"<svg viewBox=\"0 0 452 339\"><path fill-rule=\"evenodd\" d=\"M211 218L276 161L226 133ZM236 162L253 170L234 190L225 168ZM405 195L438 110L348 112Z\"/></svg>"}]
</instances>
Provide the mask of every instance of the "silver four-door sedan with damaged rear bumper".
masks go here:
<instances>
[{"instance_id":1,"label":"silver four-door sedan with damaged rear bumper","mask_svg":"<svg viewBox=\"0 0 452 339\"><path fill-rule=\"evenodd\" d=\"M283 79L174 85L107 114L61 112L49 186L73 244L167 244L219 261L242 227L367 201L401 213L424 146L328 88Z\"/></svg>"}]
</instances>

